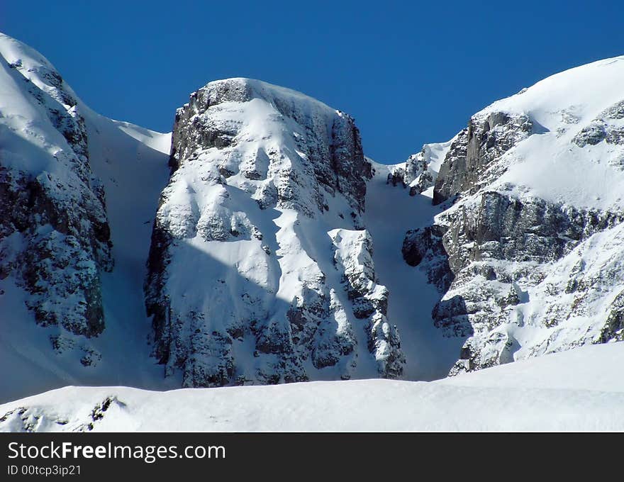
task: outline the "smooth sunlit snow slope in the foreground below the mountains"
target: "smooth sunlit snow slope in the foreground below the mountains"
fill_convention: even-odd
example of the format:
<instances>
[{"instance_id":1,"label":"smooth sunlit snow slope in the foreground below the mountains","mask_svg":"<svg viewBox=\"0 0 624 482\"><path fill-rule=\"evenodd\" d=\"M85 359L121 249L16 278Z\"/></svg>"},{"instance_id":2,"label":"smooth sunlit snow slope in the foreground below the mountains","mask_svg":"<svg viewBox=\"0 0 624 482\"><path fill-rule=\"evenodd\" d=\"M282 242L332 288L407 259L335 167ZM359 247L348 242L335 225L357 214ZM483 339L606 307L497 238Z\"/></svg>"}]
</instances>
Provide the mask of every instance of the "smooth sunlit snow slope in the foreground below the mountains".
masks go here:
<instances>
[{"instance_id":1,"label":"smooth sunlit snow slope in the foreground below the mountains","mask_svg":"<svg viewBox=\"0 0 624 482\"><path fill-rule=\"evenodd\" d=\"M615 343L428 383L67 387L0 405L0 430L624 430L623 363Z\"/></svg>"}]
</instances>

